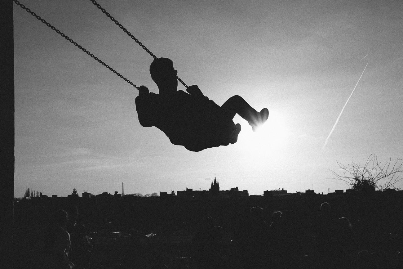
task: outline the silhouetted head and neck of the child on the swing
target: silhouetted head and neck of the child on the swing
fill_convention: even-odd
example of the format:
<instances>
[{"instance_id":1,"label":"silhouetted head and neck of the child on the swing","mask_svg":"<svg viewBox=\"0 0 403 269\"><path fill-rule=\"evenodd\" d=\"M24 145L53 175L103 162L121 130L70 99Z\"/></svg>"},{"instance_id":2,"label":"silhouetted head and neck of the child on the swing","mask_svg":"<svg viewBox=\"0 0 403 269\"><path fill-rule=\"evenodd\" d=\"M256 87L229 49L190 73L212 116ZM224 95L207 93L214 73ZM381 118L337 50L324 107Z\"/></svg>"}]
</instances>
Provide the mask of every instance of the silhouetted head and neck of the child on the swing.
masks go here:
<instances>
[{"instance_id":1,"label":"silhouetted head and neck of the child on the swing","mask_svg":"<svg viewBox=\"0 0 403 269\"><path fill-rule=\"evenodd\" d=\"M150 65L152 80L158 88L168 92L176 92L178 88L178 71L174 69L172 60L168 58L156 58Z\"/></svg>"}]
</instances>

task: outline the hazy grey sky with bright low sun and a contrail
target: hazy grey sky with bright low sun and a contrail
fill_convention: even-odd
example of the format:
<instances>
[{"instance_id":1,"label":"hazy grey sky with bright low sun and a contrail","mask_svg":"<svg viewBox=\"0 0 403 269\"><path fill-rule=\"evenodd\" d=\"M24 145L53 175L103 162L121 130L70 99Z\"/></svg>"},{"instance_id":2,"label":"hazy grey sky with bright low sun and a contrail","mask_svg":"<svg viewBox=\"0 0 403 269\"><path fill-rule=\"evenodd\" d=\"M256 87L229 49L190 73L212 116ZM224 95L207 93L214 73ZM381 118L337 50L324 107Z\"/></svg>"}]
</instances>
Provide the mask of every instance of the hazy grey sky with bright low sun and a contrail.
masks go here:
<instances>
[{"instance_id":1,"label":"hazy grey sky with bright low sun and a contrail","mask_svg":"<svg viewBox=\"0 0 403 269\"><path fill-rule=\"evenodd\" d=\"M122 182L125 194L208 190L214 177L249 194L328 193L349 188L332 179L337 162L403 158L401 1L97 2L187 85L218 105L240 95L269 119L253 132L236 115L233 145L175 146L139 124L137 89L14 4L16 197L113 194ZM21 3L158 93L152 56L91 1Z\"/></svg>"}]
</instances>

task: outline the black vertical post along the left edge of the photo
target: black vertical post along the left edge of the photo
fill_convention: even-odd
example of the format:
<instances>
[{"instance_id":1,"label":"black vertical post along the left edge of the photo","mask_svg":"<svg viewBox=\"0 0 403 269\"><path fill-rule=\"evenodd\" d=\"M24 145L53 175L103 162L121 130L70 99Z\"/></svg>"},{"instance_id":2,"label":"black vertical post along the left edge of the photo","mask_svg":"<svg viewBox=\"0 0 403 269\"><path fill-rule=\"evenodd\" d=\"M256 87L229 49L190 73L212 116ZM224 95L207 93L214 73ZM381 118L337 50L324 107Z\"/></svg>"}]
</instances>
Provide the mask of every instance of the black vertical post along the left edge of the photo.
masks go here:
<instances>
[{"instance_id":1,"label":"black vertical post along the left edge of the photo","mask_svg":"<svg viewBox=\"0 0 403 269\"><path fill-rule=\"evenodd\" d=\"M0 264L12 268L14 202L14 30L12 0L0 1Z\"/></svg>"}]
</instances>

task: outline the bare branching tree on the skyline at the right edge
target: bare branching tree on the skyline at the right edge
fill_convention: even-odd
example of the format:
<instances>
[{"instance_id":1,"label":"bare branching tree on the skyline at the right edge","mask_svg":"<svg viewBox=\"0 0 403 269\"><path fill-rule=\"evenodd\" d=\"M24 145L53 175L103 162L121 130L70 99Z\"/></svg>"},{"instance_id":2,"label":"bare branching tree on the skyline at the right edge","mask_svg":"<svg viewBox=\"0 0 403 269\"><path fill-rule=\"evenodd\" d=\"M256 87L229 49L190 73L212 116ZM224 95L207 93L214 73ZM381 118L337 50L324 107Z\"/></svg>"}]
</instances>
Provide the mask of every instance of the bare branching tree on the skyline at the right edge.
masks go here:
<instances>
[{"instance_id":1,"label":"bare branching tree on the skyline at the right edge","mask_svg":"<svg viewBox=\"0 0 403 269\"><path fill-rule=\"evenodd\" d=\"M336 173L333 170L331 179L345 181L353 190L386 190L390 188L399 189L396 184L402 180L400 177L403 173L402 159L396 158L392 160L392 156L386 163L378 161L378 156L371 154L364 165L354 162L343 165L337 162L337 165L343 170L342 173Z\"/></svg>"}]
</instances>

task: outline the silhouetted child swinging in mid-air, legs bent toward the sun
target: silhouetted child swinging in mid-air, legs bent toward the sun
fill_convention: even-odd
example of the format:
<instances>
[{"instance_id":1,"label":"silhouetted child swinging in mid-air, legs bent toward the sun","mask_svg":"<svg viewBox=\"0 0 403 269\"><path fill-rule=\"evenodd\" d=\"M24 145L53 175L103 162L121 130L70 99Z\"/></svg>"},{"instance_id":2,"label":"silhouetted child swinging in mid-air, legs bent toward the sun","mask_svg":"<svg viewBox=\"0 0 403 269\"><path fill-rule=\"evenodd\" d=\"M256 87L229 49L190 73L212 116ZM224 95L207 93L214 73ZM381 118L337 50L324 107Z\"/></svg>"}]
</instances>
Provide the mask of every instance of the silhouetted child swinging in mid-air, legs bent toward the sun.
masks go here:
<instances>
[{"instance_id":1,"label":"silhouetted child swinging in mid-air, legs bent toward the sun","mask_svg":"<svg viewBox=\"0 0 403 269\"><path fill-rule=\"evenodd\" d=\"M154 59L150 74L158 86L158 94L141 86L135 99L141 126L157 127L172 144L196 152L227 146L237 142L241 131L241 125L232 120L235 114L247 120L253 131L268 119L267 108L258 112L238 95L218 106L197 85L187 88L189 94L178 91L177 72L172 60Z\"/></svg>"}]
</instances>

